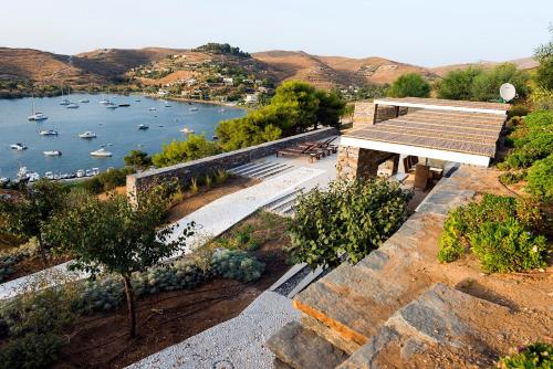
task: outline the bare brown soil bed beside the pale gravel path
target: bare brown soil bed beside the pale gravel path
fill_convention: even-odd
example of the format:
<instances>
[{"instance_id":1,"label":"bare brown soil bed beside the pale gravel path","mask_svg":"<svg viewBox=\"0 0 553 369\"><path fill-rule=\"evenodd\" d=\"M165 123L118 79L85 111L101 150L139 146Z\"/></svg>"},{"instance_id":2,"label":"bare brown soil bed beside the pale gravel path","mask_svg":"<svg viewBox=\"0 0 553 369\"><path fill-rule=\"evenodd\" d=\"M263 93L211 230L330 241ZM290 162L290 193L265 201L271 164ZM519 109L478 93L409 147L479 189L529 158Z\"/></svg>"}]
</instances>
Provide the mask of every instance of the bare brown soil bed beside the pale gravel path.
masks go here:
<instances>
[{"instance_id":1,"label":"bare brown soil bed beside the pale gravel path","mask_svg":"<svg viewBox=\"0 0 553 369\"><path fill-rule=\"evenodd\" d=\"M259 225L255 217L238 226ZM281 222L279 226L284 225ZM124 307L83 318L70 333L70 346L55 368L123 368L238 316L290 267L283 252L286 245L282 238L271 238L252 252L265 263L265 271L255 283L216 280L192 291L168 292L139 301L135 339L128 338Z\"/></svg>"}]
</instances>

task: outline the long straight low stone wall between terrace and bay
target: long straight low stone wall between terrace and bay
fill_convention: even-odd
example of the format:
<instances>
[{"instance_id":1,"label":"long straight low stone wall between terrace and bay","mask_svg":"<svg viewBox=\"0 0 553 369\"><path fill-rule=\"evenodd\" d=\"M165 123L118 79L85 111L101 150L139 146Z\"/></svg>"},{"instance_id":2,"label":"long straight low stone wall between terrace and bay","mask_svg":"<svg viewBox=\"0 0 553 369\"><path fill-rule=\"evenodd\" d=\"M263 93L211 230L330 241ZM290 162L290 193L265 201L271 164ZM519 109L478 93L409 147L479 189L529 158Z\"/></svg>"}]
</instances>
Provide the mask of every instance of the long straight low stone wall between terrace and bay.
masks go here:
<instances>
[{"instance_id":1,"label":"long straight low stone wall between terrace and bay","mask_svg":"<svg viewBox=\"0 0 553 369\"><path fill-rule=\"evenodd\" d=\"M320 140L335 135L338 135L336 128L326 127L236 151L131 175L127 176L127 194L137 193L137 190L146 188L154 180L177 179L180 183L187 184L192 178L198 178L219 169L228 170L267 156L275 155L276 151L290 146Z\"/></svg>"}]
</instances>

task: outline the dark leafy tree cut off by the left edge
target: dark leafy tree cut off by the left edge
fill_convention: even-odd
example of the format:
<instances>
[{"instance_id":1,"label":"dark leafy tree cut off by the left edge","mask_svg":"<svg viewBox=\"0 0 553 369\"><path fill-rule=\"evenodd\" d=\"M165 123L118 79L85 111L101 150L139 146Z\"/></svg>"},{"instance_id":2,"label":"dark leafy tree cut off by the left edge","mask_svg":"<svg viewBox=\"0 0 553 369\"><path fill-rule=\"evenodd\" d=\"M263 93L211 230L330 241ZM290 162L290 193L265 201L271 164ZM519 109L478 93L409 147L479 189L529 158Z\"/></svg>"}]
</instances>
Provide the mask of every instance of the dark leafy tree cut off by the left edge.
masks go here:
<instances>
[{"instance_id":1,"label":"dark leafy tree cut off by the left edge","mask_svg":"<svg viewBox=\"0 0 553 369\"><path fill-rule=\"evenodd\" d=\"M41 179L32 186L22 184L12 199L0 197L0 231L22 239L36 238L45 264L49 244L44 226L63 209L67 192L62 184Z\"/></svg>"}]
</instances>

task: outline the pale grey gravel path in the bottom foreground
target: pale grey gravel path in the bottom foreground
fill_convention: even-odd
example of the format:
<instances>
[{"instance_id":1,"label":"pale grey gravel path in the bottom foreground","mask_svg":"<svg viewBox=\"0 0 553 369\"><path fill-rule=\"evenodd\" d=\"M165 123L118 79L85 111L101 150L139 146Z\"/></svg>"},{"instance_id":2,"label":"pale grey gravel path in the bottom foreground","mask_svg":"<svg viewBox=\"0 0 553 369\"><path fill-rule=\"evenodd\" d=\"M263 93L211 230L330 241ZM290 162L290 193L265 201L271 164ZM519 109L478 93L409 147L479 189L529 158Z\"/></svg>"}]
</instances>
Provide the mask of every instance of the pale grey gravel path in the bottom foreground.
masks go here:
<instances>
[{"instance_id":1,"label":"pale grey gravel path in the bottom foreground","mask_svg":"<svg viewBox=\"0 0 553 369\"><path fill-rule=\"evenodd\" d=\"M262 293L239 316L185 341L154 354L127 368L263 369L272 368L273 355L265 340L300 313L290 299Z\"/></svg>"}]
</instances>

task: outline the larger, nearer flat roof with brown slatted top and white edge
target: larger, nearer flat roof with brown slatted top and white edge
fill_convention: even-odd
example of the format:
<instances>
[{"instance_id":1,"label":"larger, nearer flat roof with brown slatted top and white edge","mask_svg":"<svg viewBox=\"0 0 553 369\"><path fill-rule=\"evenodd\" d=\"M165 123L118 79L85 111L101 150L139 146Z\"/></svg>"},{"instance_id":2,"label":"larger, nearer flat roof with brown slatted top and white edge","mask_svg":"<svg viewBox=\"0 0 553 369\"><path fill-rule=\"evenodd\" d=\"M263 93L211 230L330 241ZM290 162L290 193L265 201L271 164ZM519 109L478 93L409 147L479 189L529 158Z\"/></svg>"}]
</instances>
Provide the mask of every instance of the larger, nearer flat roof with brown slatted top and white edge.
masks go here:
<instances>
[{"instance_id":1,"label":"larger, nearer flat roof with brown slatted top and white edge","mask_svg":"<svg viewBox=\"0 0 553 369\"><path fill-rule=\"evenodd\" d=\"M487 166L495 156L505 118L499 114L421 109L352 129L342 136L342 145Z\"/></svg>"}]
</instances>

